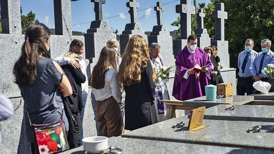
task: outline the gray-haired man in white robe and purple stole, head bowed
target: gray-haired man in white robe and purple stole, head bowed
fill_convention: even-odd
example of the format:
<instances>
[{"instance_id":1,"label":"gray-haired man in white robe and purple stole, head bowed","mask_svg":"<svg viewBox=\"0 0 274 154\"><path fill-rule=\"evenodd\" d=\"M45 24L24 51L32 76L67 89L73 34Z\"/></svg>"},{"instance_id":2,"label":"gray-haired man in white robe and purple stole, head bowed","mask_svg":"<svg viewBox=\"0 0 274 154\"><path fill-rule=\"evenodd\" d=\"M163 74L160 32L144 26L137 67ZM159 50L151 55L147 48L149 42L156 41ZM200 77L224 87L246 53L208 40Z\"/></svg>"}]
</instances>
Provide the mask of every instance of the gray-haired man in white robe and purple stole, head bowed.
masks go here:
<instances>
[{"instance_id":1,"label":"gray-haired man in white robe and purple stole, head bowed","mask_svg":"<svg viewBox=\"0 0 274 154\"><path fill-rule=\"evenodd\" d=\"M155 72L159 72L159 70L163 67L162 58L159 56L161 46L158 43L152 43L149 46L149 55L150 55L150 63L152 65L152 68L155 70ZM168 79L169 73L166 77ZM160 85L157 85L160 86ZM167 91L167 86L159 88L159 91L156 91L156 101L157 105L156 111L157 111L157 118L158 122L166 120L167 119L167 108L166 105L164 105L160 100L169 100L169 95ZM162 91L161 91L162 90Z\"/></svg>"}]
</instances>

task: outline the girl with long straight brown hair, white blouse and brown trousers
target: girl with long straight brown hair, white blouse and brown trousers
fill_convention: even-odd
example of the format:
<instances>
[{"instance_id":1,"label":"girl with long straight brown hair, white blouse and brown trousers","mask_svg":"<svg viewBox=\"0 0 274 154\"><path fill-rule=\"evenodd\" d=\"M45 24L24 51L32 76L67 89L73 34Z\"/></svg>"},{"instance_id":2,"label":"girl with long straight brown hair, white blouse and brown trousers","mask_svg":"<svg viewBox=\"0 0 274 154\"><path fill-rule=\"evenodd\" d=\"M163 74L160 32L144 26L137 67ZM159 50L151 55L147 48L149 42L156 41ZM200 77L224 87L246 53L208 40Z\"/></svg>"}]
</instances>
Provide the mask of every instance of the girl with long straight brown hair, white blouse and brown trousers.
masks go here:
<instances>
[{"instance_id":1,"label":"girl with long straight brown hair, white blouse and brown trousers","mask_svg":"<svg viewBox=\"0 0 274 154\"><path fill-rule=\"evenodd\" d=\"M100 136L120 136L122 133L122 94L117 80L116 50L105 46L89 78L89 86L97 100L96 116Z\"/></svg>"}]
</instances>

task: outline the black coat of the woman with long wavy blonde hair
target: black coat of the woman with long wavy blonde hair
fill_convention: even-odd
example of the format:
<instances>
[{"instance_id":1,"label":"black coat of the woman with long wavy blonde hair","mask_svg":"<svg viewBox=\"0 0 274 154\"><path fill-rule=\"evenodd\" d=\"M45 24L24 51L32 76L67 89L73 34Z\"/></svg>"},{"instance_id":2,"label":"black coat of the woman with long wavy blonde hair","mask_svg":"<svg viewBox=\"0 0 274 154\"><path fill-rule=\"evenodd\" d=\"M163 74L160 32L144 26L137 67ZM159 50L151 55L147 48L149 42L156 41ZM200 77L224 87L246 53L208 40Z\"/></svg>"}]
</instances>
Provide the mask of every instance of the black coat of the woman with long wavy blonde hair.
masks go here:
<instances>
[{"instance_id":1,"label":"black coat of the woman with long wavy blonde hair","mask_svg":"<svg viewBox=\"0 0 274 154\"><path fill-rule=\"evenodd\" d=\"M134 130L158 122L155 109L155 84L149 60L142 69L141 81L125 86L125 129Z\"/></svg>"}]
</instances>

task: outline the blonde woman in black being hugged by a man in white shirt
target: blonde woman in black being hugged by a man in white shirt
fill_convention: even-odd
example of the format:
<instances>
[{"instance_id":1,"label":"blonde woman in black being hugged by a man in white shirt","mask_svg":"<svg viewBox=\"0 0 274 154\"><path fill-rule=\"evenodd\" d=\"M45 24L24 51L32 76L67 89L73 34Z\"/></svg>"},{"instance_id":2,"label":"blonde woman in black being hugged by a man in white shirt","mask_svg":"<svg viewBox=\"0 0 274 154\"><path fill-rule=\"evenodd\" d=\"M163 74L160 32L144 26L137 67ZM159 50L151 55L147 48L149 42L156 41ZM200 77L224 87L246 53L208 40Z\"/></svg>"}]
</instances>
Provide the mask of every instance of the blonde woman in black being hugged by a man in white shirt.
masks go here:
<instances>
[{"instance_id":1,"label":"blonde woman in black being hugged by a man in white shirt","mask_svg":"<svg viewBox=\"0 0 274 154\"><path fill-rule=\"evenodd\" d=\"M73 52L66 53L64 57L74 58L78 61L80 60L79 56ZM65 102L69 102L69 104L73 106L71 112L74 117L74 130L70 129L68 133L69 147L72 149L78 147L78 142L82 129L80 118L80 112L83 109L81 83L84 83L86 81L86 76L82 73L80 68L74 69L69 64L63 65L61 67L64 69L65 74L69 78L73 91L72 95L64 98Z\"/></svg>"}]
</instances>

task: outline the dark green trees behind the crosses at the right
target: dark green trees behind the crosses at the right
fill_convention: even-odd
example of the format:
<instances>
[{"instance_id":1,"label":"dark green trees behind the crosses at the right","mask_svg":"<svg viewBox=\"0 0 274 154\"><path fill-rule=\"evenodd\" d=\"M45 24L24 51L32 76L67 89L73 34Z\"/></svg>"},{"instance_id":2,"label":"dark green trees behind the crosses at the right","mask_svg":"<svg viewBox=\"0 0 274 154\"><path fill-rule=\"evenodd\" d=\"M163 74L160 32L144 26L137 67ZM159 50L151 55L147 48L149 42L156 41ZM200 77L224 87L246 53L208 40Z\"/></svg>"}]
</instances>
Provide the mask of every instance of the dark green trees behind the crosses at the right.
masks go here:
<instances>
[{"instance_id":1,"label":"dark green trees behind the crosses at the right","mask_svg":"<svg viewBox=\"0 0 274 154\"><path fill-rule=\"evenodd\" d=\"M238 68L238 55L244 50L245 40L254 40L254 50L261 51L261 40L274 39L274 0L211 0L209 4L199 3L204 9L204 27L210 37L215 35L215 19L211 17L216 3L224 3L228 12L225 20L225 40L229 41L230 67ZM172 26L180 26L180 17ZM193 27L193 23L191 23ZM177 30L177 34L180 34Z\"/></svg>"}]
</instances>

